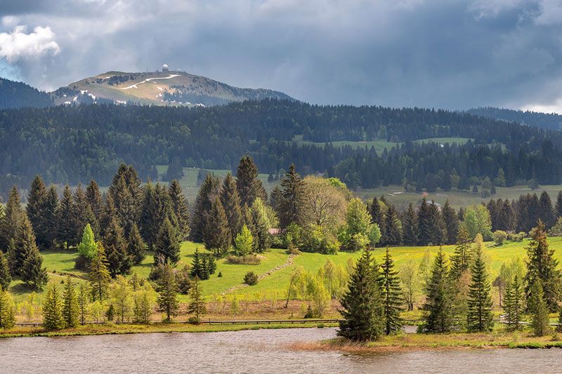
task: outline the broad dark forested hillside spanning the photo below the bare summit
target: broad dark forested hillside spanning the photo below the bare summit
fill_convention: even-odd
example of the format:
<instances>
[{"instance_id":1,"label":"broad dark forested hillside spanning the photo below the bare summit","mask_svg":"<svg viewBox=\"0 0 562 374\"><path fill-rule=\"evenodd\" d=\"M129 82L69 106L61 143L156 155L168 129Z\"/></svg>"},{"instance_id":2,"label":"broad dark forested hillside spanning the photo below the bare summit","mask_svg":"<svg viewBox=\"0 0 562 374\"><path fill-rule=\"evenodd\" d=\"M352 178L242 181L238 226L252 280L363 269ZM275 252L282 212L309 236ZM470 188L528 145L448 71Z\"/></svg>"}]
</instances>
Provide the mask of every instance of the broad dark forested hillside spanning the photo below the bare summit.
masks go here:
<instances>
[{"instance_id":1,"label":"broad dark forested hillside spanning the photo below the bare summit","mask_svg":"<svg viewBox=\"0 0 562 374\"><path fill-rule=\"evenodd\" d=\"M244 154L264 173L295 163L303 174L327 173L349 187L468 189L486 177L497 185L562 181L562 134L444 110L283 100L209 108L80 105L6 109L0 128L2 192L14 183L27 185L37 173L47 182L95 178L107 185L122 162L135 166L142 179L155 174L155 165L176 173L186 166L233 170ZM356 145L383 139L394 146L377 152L313 145L294 141L296 135ZM412 142L442 137L471 140Z\"/></svg>"}]
</instances>

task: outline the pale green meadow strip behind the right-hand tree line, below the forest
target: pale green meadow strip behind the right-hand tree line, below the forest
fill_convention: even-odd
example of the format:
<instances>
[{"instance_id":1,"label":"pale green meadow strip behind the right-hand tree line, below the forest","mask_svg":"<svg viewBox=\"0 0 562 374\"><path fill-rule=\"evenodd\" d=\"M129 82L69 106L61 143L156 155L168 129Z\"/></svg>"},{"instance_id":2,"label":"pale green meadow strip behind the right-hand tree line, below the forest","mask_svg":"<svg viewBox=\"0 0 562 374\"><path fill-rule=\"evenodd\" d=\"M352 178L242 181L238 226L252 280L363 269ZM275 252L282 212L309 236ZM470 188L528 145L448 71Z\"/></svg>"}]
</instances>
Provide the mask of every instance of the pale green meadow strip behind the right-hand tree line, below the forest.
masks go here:
<instances>
[{"instance_id":1,"label":"pale green meadow strip behind the right-hand tree line, below the forest","mask_svg":"<svg viewBox=\"0 0 562 374\"><path fill-rule=\"evenodd\" d=\"M556 195L558 191L562 190L562 185L544 185L540 186L538 189L532 190L527 186L514 186L514 187L496 187L497 194L492 196L493 199L518 199L521 194L536 193L540 195L543 191L548 192L552 201L556 201ZM390 185L386 187L379 187L376 189L360 189L354 191L355 196L360 197L364 200L370 200L374 196L380 197L384 195L385 199L396 205L398 210L407 208L407 204L412 201L416 203L421 201L424 196L422 193L417 192L405 192L402 186ZM488 202L491 197L483 198L479 193L472 193L469 191L437 191L429 192L425 194L426 199L435 200L436 203L444 204L447 199L450 204L455 208L460 208L461 206L471 206L475 203Z\"/></svg>"}]
</instances>

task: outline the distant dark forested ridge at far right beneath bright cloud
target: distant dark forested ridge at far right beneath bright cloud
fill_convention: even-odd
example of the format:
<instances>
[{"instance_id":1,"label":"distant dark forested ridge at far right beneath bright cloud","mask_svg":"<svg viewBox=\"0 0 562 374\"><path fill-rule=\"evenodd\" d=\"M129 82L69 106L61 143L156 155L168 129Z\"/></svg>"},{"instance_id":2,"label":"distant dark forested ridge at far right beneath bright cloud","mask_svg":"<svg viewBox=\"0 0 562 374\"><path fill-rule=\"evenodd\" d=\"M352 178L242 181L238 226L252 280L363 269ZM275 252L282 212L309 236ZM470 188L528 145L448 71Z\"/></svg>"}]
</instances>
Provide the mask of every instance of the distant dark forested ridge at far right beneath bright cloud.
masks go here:
<instances>
[{"instance_id":1,"label":"distant dark forested ridge at far right beneath bright cloud","mask_svg":"<svg viewBox=\"0 0 562 374\"><path fill-rule=\"evenodd\" d=\"M561 130L562 116L556 113L540 113L523 110L503 109L496 107L482 107L469 109L467 112L477 116L485 116L493 119L502 119L504 121L514 121L517 123L525 123L530 126L540 128L548 128L549 130Z\"/></svg>"}]
</instances>

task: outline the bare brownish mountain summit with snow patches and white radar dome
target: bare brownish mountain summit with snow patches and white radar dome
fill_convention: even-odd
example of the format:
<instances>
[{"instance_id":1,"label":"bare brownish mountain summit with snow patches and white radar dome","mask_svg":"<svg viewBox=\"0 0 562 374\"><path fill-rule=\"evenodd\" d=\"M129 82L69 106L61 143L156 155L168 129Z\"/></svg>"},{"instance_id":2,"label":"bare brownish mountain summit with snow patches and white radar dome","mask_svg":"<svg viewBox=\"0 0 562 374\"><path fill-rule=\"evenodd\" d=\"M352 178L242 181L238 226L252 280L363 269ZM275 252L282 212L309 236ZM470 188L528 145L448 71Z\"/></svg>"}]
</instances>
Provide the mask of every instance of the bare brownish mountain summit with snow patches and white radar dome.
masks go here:
<instances>
[{"instance_id":1,"label":"bare brownish mountain summit with snow patches and white radar dome","mask_svg":"<svg viewBox=\"0 0 562 374\"><path fill-rule=\"evenodd\" d=\"M115 102L148 105L209 106L276 98L294 100L264 88L238 88L186 72L107 72L53 92L55 103Z\"/></svg>"}]
</instances>

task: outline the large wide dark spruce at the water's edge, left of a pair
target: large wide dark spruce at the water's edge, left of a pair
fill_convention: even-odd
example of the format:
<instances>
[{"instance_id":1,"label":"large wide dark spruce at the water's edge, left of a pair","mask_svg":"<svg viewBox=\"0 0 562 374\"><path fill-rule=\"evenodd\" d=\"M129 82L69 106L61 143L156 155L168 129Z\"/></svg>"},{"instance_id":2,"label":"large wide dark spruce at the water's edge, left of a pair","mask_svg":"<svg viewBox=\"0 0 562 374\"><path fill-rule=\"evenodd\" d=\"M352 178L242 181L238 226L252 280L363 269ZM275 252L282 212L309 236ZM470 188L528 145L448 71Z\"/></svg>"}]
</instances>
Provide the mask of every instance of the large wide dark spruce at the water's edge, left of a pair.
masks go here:
<instances>
[{"instance_id":1,"label":"large wide dark spruce at the water's edge, left of a pair","mask_svg":"<svg viewBox=\"0 0 562 374\"><path fill-rule=\"evenodd\" d=\"M376 340L384 333L384 305L378 281L378 265L373 265L371 253L365 249L355 264L342 296L339 310L338 335L351 340Z\"/></svg>"}]
</instances>

